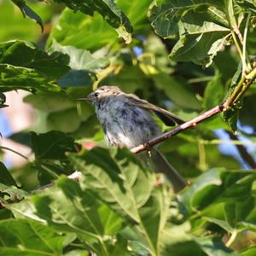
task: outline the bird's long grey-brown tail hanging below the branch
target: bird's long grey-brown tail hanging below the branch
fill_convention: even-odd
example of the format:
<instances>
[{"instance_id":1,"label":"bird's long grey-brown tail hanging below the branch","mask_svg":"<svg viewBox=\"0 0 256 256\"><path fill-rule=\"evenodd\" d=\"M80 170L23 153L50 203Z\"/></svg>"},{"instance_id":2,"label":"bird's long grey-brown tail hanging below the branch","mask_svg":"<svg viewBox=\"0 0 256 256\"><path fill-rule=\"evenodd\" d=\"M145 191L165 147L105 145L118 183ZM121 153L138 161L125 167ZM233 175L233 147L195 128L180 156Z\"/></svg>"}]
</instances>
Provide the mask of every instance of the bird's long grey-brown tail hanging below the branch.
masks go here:
<instances>
[{"instance_id":1,"label":"bird's long grey-brown tail hanging below the branch","mask_svg":"<svg viewBox=\"0 0 256 256\"><path fill-rule=\"evenodd\" d=\"M158 149L151 152L151 162L153 162L154 170L166 174L171 181L175 193L187 186L185 179L177 172L177 170L166 160L166 157L160 153Z\"/></svg>"}]
</instances>

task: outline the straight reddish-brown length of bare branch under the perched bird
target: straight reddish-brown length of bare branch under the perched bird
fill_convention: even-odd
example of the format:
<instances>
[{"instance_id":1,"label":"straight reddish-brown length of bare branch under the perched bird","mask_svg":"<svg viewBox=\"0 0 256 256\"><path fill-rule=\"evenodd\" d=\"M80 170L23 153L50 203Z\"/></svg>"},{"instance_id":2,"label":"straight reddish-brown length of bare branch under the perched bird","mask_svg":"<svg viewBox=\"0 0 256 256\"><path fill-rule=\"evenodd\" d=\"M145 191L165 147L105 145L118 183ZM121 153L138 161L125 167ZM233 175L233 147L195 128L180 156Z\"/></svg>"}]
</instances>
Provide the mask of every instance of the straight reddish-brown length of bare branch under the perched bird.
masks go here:
<instances>
[{"instance_id":1,"label":"straight reddish-brown length of bare branch under the perched bird","mask_svg":"<svg viewBox=\"0 0 256 256\"><path fill-rule=\"evenodd\" d=\"M171 131L167 131L161 134L158 137L154 137L154 139L150 140L146 145L141 144L135 148L131 148L131 152L134 154L138 154L144 150L148 150L148 148L153 147L155 144L161 143L165 141L167 138L177 135L178 133L185 131L189 128L195 127L195 125L201 123L201 121L211 118L213 115L217 113L221 113L224 110L224 104L218 105L205 113L201 113L201 115L197 116L195 119L192 119L182 125L178 125L176 128Z\"/></svg>"}]
</instances>

